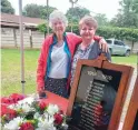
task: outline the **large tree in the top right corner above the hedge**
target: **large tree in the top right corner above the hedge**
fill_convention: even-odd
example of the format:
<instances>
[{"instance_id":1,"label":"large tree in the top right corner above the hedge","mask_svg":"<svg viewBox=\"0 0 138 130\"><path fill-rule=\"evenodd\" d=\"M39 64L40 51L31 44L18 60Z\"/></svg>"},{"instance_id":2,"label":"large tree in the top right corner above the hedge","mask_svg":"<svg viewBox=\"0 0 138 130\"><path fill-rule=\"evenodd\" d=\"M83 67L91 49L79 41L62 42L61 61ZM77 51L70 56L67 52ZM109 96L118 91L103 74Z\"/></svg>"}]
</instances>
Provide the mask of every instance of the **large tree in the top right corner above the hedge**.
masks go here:
<instances>
[{"instance_id":1,"label":"large tree in the top right corner above the hedge","mask_svg":"<svg viewBox=\"0 0 138 130\"><path fill-rule=\"evenodd\" d=\"M138 27L138 0L121 0L119 13L111 20L118 27Z\"/></svg>"}]
</instances>

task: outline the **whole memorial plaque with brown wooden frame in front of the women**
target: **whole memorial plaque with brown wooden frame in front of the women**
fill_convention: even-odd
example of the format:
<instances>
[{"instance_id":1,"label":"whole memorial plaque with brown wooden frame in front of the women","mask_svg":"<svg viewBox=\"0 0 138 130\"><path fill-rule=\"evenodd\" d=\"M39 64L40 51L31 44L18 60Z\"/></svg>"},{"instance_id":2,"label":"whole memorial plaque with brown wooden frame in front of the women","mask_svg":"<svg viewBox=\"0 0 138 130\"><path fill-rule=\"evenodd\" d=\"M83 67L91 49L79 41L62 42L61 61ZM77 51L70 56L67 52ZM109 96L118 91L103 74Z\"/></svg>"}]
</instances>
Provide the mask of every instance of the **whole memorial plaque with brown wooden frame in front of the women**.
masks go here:
<instances>
[{"instance_id":1,"label":"whole memorial plaque with brown wooden frame in front of the women","mask_svg":"<svg viewBox=\"0 0 138 130\"><path fill-rule=\"evenodd\" d=\"M100 61L79 60L77 64L67 110L72 118L70 130L116 130L118 127L132 68Z\"/></svg>"}]
</instances>

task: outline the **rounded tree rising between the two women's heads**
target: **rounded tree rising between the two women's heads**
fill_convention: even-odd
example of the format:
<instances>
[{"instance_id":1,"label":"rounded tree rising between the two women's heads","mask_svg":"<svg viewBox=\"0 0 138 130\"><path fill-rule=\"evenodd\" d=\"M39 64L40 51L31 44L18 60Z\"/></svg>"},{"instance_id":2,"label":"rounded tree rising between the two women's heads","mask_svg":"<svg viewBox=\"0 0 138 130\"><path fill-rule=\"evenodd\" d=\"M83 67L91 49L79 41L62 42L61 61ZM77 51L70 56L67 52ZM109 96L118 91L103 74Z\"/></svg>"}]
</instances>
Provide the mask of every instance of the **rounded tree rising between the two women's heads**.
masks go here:
<instances>
[{"instance_id":1,"label":"rounded tree rising between the two women's heads","mask_svg":"<svg viewBox=\"0 0 138 130\"><path fill-rule=\"evenodd\" d=\"M80 8L80 7L69 8L69 10L66 13L69 21L72 20L73 22L77 23L86 14L90 14L90 11L86 8Z\"/></svg>"}]
</instances>

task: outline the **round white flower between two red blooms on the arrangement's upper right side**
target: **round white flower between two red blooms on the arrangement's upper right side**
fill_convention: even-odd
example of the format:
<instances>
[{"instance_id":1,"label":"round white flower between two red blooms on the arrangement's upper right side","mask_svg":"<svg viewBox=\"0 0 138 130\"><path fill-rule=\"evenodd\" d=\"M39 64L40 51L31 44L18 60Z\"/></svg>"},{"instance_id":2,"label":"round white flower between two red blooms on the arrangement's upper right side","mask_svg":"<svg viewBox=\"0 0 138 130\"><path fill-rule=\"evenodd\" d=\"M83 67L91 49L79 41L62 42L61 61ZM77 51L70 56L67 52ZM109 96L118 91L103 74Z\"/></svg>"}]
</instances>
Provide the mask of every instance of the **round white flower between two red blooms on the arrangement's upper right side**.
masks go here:
<instances>
[{"instance_id":1,"label":"round white flower between two red blooms on the arrangement's upper right side","mask_svg":"<svg viewBox=\"0 0 138 130\"><path fill-rule=\"evenodd\" d=\"M53 116L59 111L59 108L57 104L49 104L47 111L50 116Z\"/></svg>"}]
</instances>

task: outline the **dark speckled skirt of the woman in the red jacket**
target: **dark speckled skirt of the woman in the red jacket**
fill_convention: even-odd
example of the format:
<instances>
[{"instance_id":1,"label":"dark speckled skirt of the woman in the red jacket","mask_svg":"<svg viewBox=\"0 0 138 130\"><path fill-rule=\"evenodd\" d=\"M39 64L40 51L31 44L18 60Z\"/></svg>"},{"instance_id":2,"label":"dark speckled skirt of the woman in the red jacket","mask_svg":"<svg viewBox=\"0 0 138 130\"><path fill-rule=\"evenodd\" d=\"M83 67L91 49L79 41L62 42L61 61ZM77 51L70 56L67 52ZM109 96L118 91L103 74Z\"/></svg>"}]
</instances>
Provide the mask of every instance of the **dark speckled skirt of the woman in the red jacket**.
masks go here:
<instances>
[{"instance_id":1,"label":"dark speckled skirt of the woman in the red jacket","mask_svg":"<svg viewBox=\"0 0 138 130\"><path fill-rule=\"evenodd\" d=\"M53 79L48 77L45 81L45 89L63 98L68 98L67 81L67 78Z\"/></svg>"}]
</instances>

